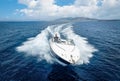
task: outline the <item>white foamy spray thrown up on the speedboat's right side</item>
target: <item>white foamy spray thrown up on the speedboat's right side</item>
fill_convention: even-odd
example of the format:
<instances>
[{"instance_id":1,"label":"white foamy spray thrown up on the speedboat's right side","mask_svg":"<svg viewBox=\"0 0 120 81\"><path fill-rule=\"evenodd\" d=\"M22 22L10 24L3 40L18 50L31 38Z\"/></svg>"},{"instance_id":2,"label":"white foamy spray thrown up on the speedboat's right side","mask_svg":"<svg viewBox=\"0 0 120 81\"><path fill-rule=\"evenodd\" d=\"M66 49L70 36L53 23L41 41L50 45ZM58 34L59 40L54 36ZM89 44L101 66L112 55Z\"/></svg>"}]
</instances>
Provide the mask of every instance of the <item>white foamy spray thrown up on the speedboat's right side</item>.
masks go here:
<instances>
[{"instance_id":1,"label":"white foamy spray thrown up on the speedboat's right side","mask_svg":"<svg viewBox=\"0 0 120 81\"><path fill-rule=\"evenodd\" d=\"M89 63L89 59L93 56L92 53L97 51L97 49L88 43L87 38L75 34L72 25L66 27L62 33L67 39L72 39L79 48L80 59L76 64Z\"/></svg>"}]
</instances>

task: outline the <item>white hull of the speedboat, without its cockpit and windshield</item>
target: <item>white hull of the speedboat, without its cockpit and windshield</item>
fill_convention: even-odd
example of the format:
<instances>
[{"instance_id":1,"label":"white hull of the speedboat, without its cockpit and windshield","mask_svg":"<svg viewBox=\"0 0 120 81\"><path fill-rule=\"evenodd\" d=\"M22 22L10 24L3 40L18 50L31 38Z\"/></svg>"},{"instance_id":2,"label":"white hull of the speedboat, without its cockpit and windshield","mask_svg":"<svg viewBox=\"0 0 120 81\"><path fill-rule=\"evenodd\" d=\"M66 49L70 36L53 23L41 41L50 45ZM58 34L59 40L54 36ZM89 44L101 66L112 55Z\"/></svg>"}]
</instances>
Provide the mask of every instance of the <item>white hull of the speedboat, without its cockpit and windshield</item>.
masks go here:
<instances>
[{"instance_id":1,"label":"white hull of the speedboat, without its cockpit and windshield","mask_svg":"<svg viewBox=\"0 0 120 81\"><path fill-rule=\"evenodd\" d=\"M75 45L57 43L50 39L52 54L65 64L75 64L79 58L79 49Z\"/></svg>"}]
</instances>

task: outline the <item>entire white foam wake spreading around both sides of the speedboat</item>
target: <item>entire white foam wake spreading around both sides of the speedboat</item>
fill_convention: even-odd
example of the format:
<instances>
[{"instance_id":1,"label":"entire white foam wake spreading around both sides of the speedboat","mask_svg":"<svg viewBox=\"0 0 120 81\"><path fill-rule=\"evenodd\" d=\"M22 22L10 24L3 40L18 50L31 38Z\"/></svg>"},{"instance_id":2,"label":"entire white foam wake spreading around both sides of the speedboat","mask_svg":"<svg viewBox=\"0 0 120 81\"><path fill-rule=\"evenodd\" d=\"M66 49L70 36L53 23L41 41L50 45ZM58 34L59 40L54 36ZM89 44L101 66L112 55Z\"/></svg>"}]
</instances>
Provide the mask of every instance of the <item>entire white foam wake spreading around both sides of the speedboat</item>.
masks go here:
<instances>
[{"instance_id":1,"label":"entire white foam wake spreading around both sides of the speedboat","mask_svg":"<svg viewBox=\"0 0 120 81\"><path fill-rule=\"evenodd\" d=\"M50 55L49 38L56 32L66 38L73 39L75 45L79 48L80 59L76 64L89 63L89 59L93 56L92 53L97 50L88 43L87 38L75 34L71 24L48 26L36 37L29 38L16 49L19 52L25 52L27 55L38 56L39 60L46 60L49 63L54 63L55 60Z\"/></svg>"}]
</instances>

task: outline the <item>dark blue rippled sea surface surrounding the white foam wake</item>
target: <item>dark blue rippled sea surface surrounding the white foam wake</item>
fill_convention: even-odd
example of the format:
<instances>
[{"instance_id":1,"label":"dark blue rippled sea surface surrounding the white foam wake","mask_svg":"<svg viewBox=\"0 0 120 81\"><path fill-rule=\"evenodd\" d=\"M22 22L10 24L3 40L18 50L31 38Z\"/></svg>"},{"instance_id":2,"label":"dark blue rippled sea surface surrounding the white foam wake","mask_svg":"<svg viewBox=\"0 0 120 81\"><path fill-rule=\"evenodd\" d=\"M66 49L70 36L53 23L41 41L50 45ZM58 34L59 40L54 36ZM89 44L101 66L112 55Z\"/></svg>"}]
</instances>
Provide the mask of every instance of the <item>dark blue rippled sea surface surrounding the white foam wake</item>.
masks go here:
<instances>
[{"instance_id":1,"label":"dark blue rippled sea surface surrounding the white foam wake","mask_svg":"<svg viewBox=\"0 0 120 81\"><path fill-rule=\"evenodd\" d=\"M50 23L0 22L0 81L120 81L120 21L84 21L74 32L86 37L99 51L90 63L76 66L38 61L16 51Z\"/></svg>"}]
</instances>

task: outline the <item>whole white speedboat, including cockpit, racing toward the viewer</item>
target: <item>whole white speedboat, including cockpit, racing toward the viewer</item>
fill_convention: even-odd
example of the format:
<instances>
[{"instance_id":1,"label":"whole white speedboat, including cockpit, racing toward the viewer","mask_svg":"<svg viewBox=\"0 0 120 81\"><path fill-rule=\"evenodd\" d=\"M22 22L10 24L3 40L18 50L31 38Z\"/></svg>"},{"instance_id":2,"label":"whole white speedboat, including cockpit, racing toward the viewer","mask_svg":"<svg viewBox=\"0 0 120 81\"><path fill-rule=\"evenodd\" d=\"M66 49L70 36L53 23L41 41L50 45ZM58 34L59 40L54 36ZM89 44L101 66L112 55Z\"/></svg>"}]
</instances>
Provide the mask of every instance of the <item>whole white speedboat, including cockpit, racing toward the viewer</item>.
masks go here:
<instances>
[{"instance_id":1,"label":"whole white speedboat, including cockpit, racing toward the viewer","mask_svg":"<svg viewBox=\"0 0 120 81\"><path fill-rule=\"evenodd\" d=\"M52 56L65 64L75 64L80 59L79 49L71 39L61 39L55 34L50 39Z\"/></svg>"}]
</instances>

